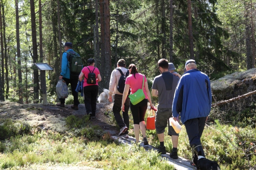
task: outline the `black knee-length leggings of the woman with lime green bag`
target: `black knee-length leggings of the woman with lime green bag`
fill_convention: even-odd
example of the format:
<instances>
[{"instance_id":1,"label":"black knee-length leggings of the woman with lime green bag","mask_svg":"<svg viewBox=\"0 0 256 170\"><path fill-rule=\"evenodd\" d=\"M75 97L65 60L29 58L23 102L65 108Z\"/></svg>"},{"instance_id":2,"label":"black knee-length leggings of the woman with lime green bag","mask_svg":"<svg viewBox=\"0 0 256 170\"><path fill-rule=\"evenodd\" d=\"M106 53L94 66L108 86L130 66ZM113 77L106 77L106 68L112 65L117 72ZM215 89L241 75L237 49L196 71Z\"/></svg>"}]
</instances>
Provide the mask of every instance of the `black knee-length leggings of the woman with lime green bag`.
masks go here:
<instances>
[{"instance_id":1,"label":"black knee-length leggings of the woman with lime green bag","mask_svg":"<svg viewBox=\"0 0 256 170\"><path fill-rule=\"evenodd\" d=\"M135 105L133 105L131 102L130 108L132 112L132 117L134 119L134 124L139 124L139 122L144 121L145 113L148 108L148 99L143 99L143 101Z\"/></svg>"}]
</instances>

